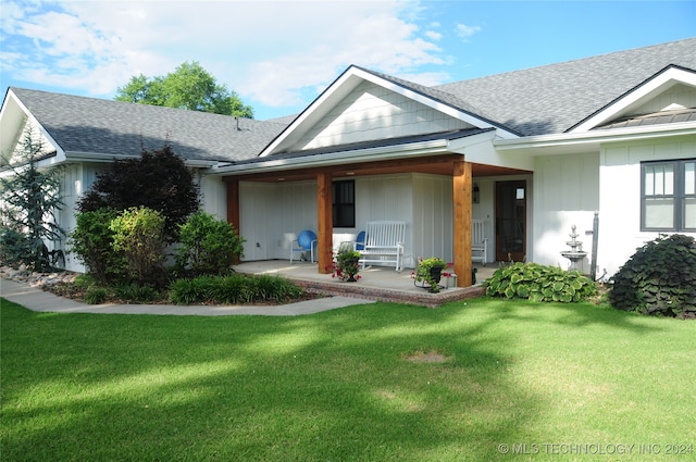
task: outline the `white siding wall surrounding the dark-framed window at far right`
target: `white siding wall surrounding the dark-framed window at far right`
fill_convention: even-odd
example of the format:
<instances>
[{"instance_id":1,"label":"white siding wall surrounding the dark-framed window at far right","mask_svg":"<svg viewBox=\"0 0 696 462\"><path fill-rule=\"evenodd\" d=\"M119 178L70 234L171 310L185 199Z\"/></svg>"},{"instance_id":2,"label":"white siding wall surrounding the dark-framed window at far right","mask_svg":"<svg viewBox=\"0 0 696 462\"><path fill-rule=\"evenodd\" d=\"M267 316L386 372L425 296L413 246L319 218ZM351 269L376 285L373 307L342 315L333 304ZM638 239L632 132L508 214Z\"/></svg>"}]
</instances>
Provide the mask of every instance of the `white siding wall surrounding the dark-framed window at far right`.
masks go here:
<instances>
[{"instance_id":1,"label":"white siding wall surrounding the dark-framed window at far right","mask_svg":"<svg viewBox=\"0 0 696 462\"><path fill-rule=\"evenodd\" d=\"M641 232L641 162L678 159L696 159L696 136L602 146L598 274L606 269L613 275L637 248L658 237L657 232Z\"/></svg>"}]
</instances>

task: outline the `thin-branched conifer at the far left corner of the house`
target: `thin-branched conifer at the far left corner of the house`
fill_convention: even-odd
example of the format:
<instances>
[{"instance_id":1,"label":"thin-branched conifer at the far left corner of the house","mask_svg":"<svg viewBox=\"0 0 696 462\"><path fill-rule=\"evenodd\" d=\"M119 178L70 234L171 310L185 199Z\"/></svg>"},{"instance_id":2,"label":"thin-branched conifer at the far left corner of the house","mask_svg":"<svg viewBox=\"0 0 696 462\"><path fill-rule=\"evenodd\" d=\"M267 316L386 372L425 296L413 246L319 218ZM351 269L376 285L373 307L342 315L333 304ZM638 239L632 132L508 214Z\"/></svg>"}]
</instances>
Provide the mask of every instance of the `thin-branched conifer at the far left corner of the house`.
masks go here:
<instances>
[{"instance_id":1,"label":"thin-branched conifer at the far left corner of the house","mask_svg":"<svg viewBox=\"0 0 696 462\"><path fill-rule=\"evenodd\" d=\"M0 178L2 236L12 236L15 245L12 260L38 272L49 270L52 263L45 240L64 236L55 220L55 212L63 207L61 168L39 168L45 155L40 138L37 140L33 130L27 130L20 147L4 159L12 173Z\"/></svg>"}]
</instances>

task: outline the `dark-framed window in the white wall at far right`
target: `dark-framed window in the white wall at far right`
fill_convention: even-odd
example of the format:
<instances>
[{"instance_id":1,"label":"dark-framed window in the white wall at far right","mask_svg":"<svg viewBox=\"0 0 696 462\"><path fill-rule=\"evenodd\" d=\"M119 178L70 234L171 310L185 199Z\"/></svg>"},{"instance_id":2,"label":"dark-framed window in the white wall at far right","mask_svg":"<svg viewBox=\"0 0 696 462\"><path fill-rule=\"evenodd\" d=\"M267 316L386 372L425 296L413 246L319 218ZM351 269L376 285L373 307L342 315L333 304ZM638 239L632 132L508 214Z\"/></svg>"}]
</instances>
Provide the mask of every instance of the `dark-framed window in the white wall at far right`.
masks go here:
<instances>
[{"instance_id":1,"label":"dark-framed window in the white wall at far right","mask_svg":"<svg viewBox=\"0 0 696 462\"><path fill-rule=\"evenodd\" d=\"M696 159L642 164L641 229L696 232Z\"/></svg>"}]
</instances>

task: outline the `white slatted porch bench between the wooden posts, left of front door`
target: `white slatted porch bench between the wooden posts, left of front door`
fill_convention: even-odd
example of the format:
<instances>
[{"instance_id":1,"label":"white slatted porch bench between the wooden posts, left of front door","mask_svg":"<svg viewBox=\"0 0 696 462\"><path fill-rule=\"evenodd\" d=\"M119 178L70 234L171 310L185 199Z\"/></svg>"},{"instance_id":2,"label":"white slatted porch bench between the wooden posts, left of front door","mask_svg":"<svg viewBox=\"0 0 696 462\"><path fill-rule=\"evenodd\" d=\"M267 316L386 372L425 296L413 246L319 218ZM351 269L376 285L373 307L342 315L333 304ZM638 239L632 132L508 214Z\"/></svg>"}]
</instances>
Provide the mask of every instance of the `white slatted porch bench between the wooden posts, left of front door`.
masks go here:
<instances>
[{"instance_id":1,"label":"white slatted porch bench between the wooden posts, left of front door","mask_svg":"<svg viewBox=\"0 0 696 462\"><path fill-rule=\"evenodd\" d=\"M363 270L368 263L387 263L401 272L405 240L405 222L368 222L364 242L355 242L353 248L362 255L360 264ZM358 246L362 246L362 249L358 249Z\"/></svg>"}]
</instances>

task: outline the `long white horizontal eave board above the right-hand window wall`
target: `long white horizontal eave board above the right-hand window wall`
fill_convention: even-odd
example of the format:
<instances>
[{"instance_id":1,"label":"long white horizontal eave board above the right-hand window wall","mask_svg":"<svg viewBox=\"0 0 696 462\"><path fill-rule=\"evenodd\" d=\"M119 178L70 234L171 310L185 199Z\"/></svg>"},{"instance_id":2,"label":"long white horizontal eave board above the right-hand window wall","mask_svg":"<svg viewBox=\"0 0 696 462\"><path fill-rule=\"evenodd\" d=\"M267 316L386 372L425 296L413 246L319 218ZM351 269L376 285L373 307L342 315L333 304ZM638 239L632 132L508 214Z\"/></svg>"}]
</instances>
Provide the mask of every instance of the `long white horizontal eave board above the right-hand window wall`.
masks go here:
<instances>
[{"instance_id":1,"label":"long white horizontal eave board above the right-hand window wall","mask_svg":"<svg viewBox=\"0 0 696 462\"><path fill-rule=\"evenodd\" d=\"M544 148L567 148L571 146L598 145L605 142L636 141L672 136L696 135L696 123L652 125L646 127L614 128L584 132L581 134L556 134L518 139L498 139L493 143L497 150L534 150ZM546 152L544 152L545 154ZM539 154L543 154L539 152Z\"/></svg>"}]
</instances>

